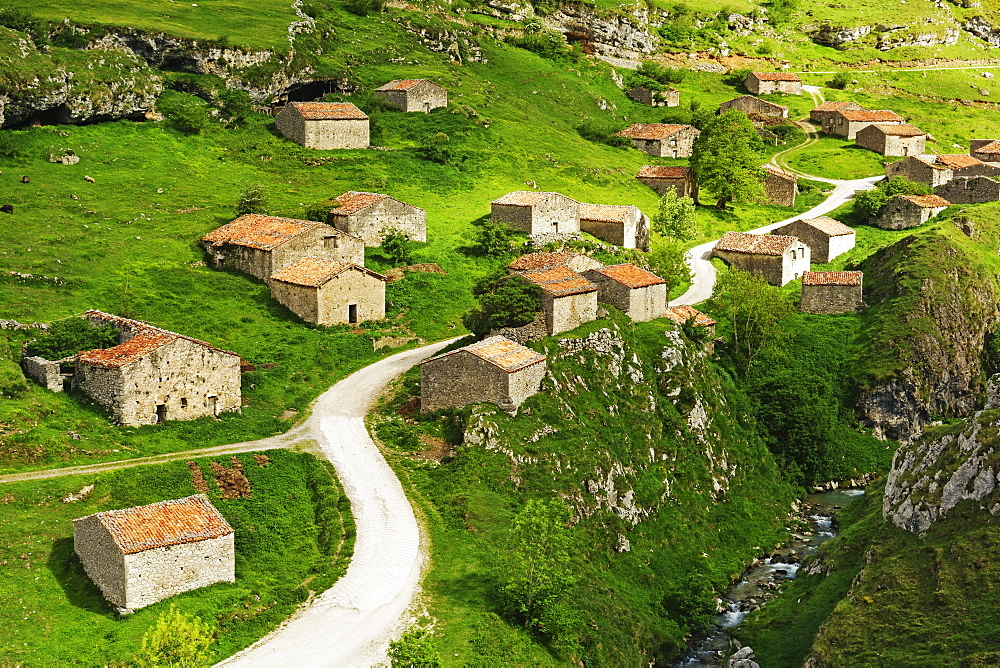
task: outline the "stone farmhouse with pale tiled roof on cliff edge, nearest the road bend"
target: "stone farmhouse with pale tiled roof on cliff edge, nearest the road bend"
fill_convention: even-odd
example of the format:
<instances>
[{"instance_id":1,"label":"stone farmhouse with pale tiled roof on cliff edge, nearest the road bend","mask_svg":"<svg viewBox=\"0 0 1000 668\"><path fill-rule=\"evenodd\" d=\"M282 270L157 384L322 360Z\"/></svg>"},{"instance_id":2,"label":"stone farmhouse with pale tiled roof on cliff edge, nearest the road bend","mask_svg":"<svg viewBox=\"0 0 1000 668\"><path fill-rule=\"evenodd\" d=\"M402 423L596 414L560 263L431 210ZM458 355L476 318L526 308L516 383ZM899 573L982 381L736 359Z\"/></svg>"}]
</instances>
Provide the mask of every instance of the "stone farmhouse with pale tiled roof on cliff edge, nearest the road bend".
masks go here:
<instances>
[{"instance_id":1,"label":"stone farmhouse with pale tiled roof on cliff edge, nearest the road bend","mask_svg":"<svg viewBox=\"0 0 1000 668\"><path fill-rule=\"evenodd\" d=\"M516 410L544 376L545 355L491 336L420 364L420 410L481 403Z\"/></svg>"}]
</instances>

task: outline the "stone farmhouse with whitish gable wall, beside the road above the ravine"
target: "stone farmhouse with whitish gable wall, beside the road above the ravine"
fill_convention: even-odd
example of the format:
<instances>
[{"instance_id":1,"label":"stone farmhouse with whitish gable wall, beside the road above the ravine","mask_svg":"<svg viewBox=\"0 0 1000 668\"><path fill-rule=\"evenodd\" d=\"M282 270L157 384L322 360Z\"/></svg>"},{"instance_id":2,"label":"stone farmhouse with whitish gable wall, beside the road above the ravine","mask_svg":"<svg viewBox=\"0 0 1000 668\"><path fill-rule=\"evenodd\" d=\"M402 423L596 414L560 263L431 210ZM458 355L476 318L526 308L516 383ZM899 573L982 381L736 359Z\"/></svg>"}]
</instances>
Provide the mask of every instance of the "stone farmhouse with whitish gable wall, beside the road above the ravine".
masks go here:
<instances>
[{"instance_id":1,"label":"stone farmhouse with whitish gable wall, beside the road above the ravine","mask_svg":"<svg viewBox=\"0 0 1000 668\"><path fill-rule=\"evenodd\" d=\"M785 285L809 271L809 247L797 237L726 232L712 254L771 285Z\"/></svg>"}]
</instances>

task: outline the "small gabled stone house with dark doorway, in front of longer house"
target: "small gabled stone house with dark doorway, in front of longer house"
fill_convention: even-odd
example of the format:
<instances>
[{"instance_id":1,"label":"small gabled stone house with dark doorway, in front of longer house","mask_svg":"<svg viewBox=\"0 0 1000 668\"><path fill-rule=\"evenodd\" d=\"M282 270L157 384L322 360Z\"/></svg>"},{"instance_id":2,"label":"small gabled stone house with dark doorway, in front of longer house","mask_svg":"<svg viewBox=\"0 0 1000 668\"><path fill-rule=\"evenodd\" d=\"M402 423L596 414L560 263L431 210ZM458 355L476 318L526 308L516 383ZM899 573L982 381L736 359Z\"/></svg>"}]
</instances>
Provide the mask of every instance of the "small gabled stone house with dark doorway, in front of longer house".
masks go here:
<instances>
[{"instance_id":1,"label":"small gabled stone house with dark doorway, in front of longer house","mask_svg":"<svg viewBox=\"0 0 1000 668\"><path fill-rule=\"evenodd\" d=\"M385 317L385 276L361 265L302 258L271 277L271 297L306 322L355 324Z\"/></svg>"}]
</instances>

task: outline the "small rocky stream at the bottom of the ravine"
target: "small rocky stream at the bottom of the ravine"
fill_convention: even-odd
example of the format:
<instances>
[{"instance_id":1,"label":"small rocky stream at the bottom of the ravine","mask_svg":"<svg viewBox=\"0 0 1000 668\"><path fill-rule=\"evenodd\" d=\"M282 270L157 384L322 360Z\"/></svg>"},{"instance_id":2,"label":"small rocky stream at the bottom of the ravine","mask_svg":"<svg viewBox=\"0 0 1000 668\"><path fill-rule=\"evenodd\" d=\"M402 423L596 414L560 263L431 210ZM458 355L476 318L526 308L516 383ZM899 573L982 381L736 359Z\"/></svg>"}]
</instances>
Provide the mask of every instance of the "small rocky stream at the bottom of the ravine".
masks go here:
<instances>
[{"instance_id":1,"label":"small rocky stream at the bottom of the ravine","mask_svg":"<svg viewBox=\"0 0 1000 668\"><path fill-rule=\"evenodd\" d=\"M864 493L863 489L835 489L808 495L797 513L799 519L808 521L808 529L792 532L788 545L751 564L722 597L721 612L715 621L705 634L693 640L674 668L721 665L722 656L729 650L729 630L779 595L781 583L795 578L802 559L837 535L836 511Z\"/></svg>"}]
</instances>

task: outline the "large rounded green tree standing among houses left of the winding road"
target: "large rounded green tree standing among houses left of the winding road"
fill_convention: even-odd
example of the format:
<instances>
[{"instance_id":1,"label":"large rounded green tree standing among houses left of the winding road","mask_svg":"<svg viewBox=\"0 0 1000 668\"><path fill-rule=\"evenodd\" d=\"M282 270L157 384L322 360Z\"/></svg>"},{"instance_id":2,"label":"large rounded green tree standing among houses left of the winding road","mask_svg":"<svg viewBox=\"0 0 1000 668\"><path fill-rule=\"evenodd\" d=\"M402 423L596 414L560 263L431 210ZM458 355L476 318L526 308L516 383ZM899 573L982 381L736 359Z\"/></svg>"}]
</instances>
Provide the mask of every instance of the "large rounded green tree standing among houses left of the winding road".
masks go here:
<instances>
[{"instance_id":1,"label":"large rounded green tree standing among houses left of the winding road","mask_svg":"<svg viewBox=\"0 0 1000 668\"><path fill-rule=\"evenodd\" d=\"M691 167L702 188L718 196L716 206L754 201L764 195L763 157L753 123L742 112L727 109L702 128L694 142Z\"/></svg>"}]
</instances>

